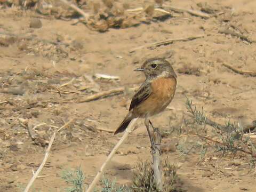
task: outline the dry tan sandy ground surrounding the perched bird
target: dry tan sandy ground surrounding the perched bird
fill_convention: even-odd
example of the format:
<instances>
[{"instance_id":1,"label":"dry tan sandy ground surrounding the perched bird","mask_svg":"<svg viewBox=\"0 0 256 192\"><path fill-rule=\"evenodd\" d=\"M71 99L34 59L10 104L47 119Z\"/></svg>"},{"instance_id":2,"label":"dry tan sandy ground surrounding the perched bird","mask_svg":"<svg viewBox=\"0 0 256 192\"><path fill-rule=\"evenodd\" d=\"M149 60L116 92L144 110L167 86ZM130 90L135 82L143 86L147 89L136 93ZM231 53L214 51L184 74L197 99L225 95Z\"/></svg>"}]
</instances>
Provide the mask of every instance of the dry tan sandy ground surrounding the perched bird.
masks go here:
<instances>
[{"instance_id":1,"label":"dry tan sandy ground surrounding the perched bird","mask_svg":"<svg viewBox=\"0 0 256 192\"><path fill-rule=\"evenodd\" d=\"M199 9L197 3L200 2L203 1L173 0L168 3ZM90 183L121 137L99 129L115 130L122 121L133 94L131 88L145 78L133 69L147 58L165 58L178 75L177 93L170 106L152 118L157 127L178 129L186 112L186 97L199 108L204 107L207 116L219 123L228 119L235 122L238 118L248 122L255 119L255 77L236 74L222 65L226 63L238 69L256 71L255 43L218 31L234 25L256 39L256 2L205 2L223 14L203 19L188 13L175 13L180 17L153 20L130 28L111 28L105 33L91 30L83 23L71 25L73 20L42 16L33 10L1 9L0 35L25 34L34 38L0 44L0 103L8 101L0 104L0 191L20 191L21 186L26 186L32 176L31 170L36 170L42 162L45 145L52 133L73 118L74 122L57 134L41 172L46 177L38 178L34 188L63 191L68 185L61 179L61 171L79 165L85 173L85 182ZM131 8L143 3L132 1ZM41 19L42 27L29 28L31 18ZM130 52L135 47L169 38L199 35L204 37ZM57 46L56 42L63 44ZM116 75L120 81L94 79L92 83L84 77L96 73ZM73 78L73 82L60 87ZM125 94L75 102L116 87L126 87ZM69 94L59 94L59 90ZM36 127L34 132L43 141L33 141L26 127L33 129L40 123L45 124ZM206 129L212 131L210 126ZM177 134L169 135L164 142L174 142L176 137ZM178 165L182 188L189 192L256 191L255 173L242 158L211 154L211 158L206 156L207 161L198 163L198 151L182 155L179 150L163 154L164 158L167 156L171 163ZM137 129L108 166L105 177L129 185L135 165L148 159L149 139L143 121L139 120Z\"/></svg>"}]
</instances>

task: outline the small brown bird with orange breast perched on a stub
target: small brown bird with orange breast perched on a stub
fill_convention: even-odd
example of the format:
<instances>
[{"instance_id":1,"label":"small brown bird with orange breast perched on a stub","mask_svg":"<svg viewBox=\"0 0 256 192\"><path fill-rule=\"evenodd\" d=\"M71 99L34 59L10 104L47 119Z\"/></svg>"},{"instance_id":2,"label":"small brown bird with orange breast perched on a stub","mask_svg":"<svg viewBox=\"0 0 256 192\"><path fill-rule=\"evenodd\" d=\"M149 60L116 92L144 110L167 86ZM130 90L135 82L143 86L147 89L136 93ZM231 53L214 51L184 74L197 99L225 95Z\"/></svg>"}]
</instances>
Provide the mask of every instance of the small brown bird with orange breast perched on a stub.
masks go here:
<instances>
[{"instance_id":1,"label":"small brown bird with orange breast perched on a stub","mask_svg":"<svg viewBox=\"0 0 256 192\"><path fill-rule=\"evenodd\" d=\"M134 71L142 71L146 80L135 92L129 112L114 134L125 131L132 119L144 118L152 145L153 138L150 135L149 124L153 129L154 126L149 117L161 113L170 104L176 90L177 75L171 64L163 58L150 58Z\"/></svg>"}]
</instances>

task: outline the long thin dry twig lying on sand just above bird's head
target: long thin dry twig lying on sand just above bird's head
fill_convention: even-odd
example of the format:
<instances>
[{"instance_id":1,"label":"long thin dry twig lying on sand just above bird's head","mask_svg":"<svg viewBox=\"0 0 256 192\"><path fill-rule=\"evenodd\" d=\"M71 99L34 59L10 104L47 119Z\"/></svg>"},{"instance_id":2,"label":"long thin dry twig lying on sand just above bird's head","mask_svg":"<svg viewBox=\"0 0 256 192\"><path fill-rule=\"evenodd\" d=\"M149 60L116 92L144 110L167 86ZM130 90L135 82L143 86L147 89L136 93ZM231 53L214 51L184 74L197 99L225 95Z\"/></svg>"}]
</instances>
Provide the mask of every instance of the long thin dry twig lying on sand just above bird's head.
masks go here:
<instances>
[{"instance_id":1,"label":"long thin dry twig lying on sand just above bird's head","mask_svg":"<svg viewBox=\"0 0 256 192\"><path fill-rule=\"evenodd\" d=\"M142 45L142 46L139 46L139 47L135 47L134 49L129 51L129 53L132 53L136 50L143 49L143 48L151 48L151 47L154 47L154 46L167 45L167 44L177 42L177 41L191 41L191 40L194 40L194 39L197 39L197 38L202 38L202 37L204 37L204 35L191 36L191 37L181 37L181 38L171 38L171 39L167 39L165 41L160 41L160 42L156 42L156 43L150 43L148 45Z\"/></svg>"}]
</instances>

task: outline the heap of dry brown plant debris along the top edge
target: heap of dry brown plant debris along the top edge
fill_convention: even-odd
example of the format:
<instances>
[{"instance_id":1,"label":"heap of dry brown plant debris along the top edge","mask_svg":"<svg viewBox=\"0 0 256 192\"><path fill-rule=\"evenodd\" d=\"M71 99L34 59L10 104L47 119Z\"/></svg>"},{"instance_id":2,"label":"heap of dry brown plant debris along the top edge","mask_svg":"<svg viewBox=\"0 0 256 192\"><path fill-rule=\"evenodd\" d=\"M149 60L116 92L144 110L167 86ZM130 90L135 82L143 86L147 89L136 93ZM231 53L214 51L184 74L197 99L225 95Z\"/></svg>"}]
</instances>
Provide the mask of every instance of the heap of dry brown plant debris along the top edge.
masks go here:
<instances>
[{"instance_id":1,"label":"heap of dry brown plant debris along the top edge","mask_svg":"<svg viewBox=\"0 0 256 192\"><path fill-rule=\"evenodd\" d=\"M89 7L85 1L67 1L67 0L30 0L30 1L4 1L2 2L6 6L22 6L26 8L33 7L38 13L43 15L54 15L58 19L70 19L76 18L77 14L82 15L79 18L79 22L83 22L92 30L100 32L107 31L109 28L127 28L140 25L140 23L149 23L154 19L161 19L165 15L170 17L179 17L179 15L158 8L162 3L146 4L145 7L138 7L135 9L129 9L129 4L121 4L114 0L102 0L101 2L93 2ZM70 8L70 9L67 9ZM87 7L86 10L80 7ZM191 15L196 15L204 19L211 17L210 14L197 10L183 9L181 7L173 7L169 5L163 5L165 9L183 13L187 12ZM91 13L90 8L93 10ZM77 22L76 22L77 23Z\"/></svg>"}]
</instances>

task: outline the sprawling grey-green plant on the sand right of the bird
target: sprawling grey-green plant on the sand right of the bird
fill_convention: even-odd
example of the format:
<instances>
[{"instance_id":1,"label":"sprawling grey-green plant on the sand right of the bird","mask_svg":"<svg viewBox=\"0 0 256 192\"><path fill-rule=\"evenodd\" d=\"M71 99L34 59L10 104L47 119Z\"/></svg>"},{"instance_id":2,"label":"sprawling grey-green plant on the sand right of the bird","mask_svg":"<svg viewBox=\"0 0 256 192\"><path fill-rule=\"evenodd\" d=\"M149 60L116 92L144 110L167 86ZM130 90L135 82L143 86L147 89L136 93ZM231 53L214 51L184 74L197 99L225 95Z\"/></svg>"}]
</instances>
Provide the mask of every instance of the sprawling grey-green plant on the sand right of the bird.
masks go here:
<instances>
[{"instance_id":1,"label":"sprawling grey-green plant on the sand right of the bird","mask_svg":"<svg viewBox=\"0 0 256 192\"><path fill-rule=\"evenodd\" d=\"M218 140L213 140L209 137L204 137L203 135L194 133L194 135L197 135L205 143L207 143L207 146L202 148L201 158L206 154L209 143L212 143L216 151L220 151L222 155L230 154L235 156L239 151L249 155L250 162L254 163L256 161L255 146L251 142L250 137L244 135L243 127L236 126L234 123L231 123L230 120L225 125L213 122L211 119L206 117L203 109L202 111L198 111L196 106L193 107L193 103L189 99L186 101L186 107L188 112L193 115L193 118L197 124L207 124L218 130L216 132L216 134L219 135Z\"/></svg>"}]
</instances>

